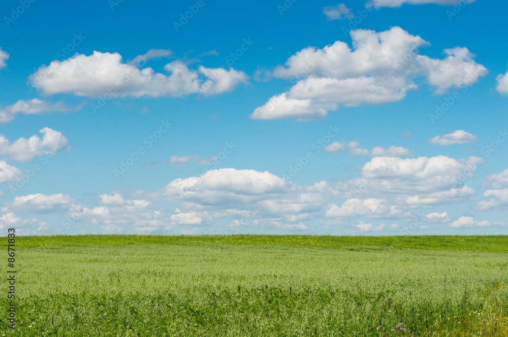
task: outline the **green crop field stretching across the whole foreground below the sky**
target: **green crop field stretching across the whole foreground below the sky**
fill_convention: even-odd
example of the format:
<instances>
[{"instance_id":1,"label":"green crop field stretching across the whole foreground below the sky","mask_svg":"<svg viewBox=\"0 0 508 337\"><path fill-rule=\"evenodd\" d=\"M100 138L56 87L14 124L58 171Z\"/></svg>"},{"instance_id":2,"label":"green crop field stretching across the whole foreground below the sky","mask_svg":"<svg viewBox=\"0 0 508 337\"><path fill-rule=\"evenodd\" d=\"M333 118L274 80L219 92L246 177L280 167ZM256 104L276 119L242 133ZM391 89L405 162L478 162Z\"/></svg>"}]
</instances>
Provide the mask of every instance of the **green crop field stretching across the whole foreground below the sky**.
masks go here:
<instances>
[{"instance_id":1,"label":"green crop field stretching across the whole foreground below the sky","mask_svg":"<svg viewBox=\"0 0 508 337\"><path fill-rule=\"evenodd\" d=\"M508 336L506 236L19 237L16 269L2 336Z\"/></svg>"}]
</instances>

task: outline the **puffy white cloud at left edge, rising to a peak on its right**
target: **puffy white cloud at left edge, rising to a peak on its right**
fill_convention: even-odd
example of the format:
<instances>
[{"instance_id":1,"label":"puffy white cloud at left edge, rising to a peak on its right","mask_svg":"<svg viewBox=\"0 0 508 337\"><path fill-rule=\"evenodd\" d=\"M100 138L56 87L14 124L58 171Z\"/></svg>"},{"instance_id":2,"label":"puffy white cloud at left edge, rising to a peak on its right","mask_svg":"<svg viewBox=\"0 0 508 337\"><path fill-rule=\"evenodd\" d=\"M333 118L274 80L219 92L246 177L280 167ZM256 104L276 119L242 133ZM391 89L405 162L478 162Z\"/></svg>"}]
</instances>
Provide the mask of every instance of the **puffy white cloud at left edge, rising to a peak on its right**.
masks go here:
<instances>
[{"instance_id":1,"label":"puffy white cloud at left edge, rising to a peak on its right","mask_svg":"<svg viewBox=\"0 0 508 337\"><path fill-rule=\"evenodd\" d=\"M43 135L42 139L34 134L29 139L20 138L14 143L9 142L3 134L0 134L0 156L26 161L40 155L53 155L67 146L67 138L61 132L49 127L44 127L39 132Z\"/></svg>"}]
</instances>

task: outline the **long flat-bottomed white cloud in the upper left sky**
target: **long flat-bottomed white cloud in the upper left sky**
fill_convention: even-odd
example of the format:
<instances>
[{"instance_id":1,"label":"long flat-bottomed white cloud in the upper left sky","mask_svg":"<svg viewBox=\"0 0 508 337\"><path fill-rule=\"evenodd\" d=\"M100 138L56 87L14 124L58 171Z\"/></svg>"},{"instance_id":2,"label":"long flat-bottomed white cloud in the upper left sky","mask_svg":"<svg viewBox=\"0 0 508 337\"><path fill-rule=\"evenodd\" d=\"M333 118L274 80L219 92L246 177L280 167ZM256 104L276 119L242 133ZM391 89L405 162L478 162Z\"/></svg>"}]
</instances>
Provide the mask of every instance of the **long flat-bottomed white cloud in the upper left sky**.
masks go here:
<instances>
[{"instance_id":1,"label":"long flat-bottomed white cloud in the upper left sky","mask_svg":"<svg viewBox=\"0 0 508 337\"><path fill-rule=\"evenodd\" d=\"M170 75L123 63L118 53L94 51L90 56L76 54L63 61L54 60L49 66L43 65L30 76L30 82L46 94L179 97L198 92L208 95L231 91L240 82L247 81L245 73L234 69L200 66L195 71L179 60L166 64L164 70Z\"/></svg>"}]
</instances>

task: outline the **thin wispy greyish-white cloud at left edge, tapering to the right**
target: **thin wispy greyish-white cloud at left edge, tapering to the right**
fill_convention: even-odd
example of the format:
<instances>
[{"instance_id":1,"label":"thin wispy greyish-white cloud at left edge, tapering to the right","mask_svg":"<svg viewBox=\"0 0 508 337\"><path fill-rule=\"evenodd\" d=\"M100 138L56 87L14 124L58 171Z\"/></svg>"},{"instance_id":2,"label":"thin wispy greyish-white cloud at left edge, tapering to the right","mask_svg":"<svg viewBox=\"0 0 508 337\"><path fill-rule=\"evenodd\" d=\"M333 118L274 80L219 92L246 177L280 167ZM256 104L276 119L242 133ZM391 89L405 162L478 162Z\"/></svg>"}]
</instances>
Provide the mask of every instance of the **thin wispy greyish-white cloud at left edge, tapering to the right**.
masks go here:
<instances>
[{"instance_id":1,"label":"thin wispy greyish-white cloud at left edge, tapering to the right","mask_svg":"<svg viewBox=\"0 0 508 337\"><path fill-rule=\"evenodd\" d=\"M69 107L63 102L49 103L39 98L33 98L28 100L18 100L15 104L0 108L0 124L10 122L14 119L16 114L22 113L25 115L31 114L43 114L46 112L69 112L73 110L81 109L82 105L77 107Z\"/></svg>"}]
</instances>

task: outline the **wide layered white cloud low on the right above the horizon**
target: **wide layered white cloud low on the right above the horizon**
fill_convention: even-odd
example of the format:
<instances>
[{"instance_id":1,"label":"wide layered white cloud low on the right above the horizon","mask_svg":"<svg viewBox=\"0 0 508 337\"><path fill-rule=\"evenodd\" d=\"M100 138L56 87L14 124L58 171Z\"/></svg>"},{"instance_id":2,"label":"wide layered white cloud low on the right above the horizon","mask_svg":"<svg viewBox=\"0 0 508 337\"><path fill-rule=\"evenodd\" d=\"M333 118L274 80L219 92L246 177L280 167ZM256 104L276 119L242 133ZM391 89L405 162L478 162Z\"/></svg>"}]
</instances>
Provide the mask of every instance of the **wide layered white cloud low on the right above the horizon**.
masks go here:
<instances>
[{"instance_id":1,"label":"wide layered white cloud low on the right above the horizon","mask_svg":"<svg viewBox=\"0 0 508 337\"><path fill-rule=\"evenodd\" d=\"M347 198L396 198L394 205L428 207L455 204L474 195L463 177L472 177L479 157L447 156L399 158L374 157L363 166L360 177L330 183L334 195Z\"/></svg>"}]
</instances>

